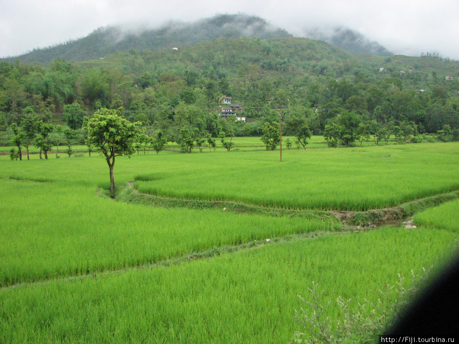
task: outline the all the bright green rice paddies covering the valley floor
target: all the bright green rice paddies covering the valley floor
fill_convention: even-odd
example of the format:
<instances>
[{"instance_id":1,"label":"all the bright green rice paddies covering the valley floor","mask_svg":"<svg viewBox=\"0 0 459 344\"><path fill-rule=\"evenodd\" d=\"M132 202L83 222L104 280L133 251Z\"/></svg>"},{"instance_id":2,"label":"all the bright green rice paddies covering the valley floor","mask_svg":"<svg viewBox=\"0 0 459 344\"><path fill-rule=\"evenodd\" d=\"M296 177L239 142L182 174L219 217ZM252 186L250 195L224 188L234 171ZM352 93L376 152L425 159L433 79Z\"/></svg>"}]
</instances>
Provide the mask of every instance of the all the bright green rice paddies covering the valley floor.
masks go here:
<instances>
[{"instance_id":1,"label":"all the bright green rice paddies covering the valley floor","mask_svg":"<svg viewBox=\"0 0 459 344\"><path fill-rule=\"evenodd\" d=\"M365 210L459 190L456 143L117 157L118 189L279 208ZM0 156L0 343L287 343L308 287L376 300L456 254L459 202L417 228L163 208L103 197L97 154ZM338 317L331 306L329 316Z\"/></svg>"}]
</instances>

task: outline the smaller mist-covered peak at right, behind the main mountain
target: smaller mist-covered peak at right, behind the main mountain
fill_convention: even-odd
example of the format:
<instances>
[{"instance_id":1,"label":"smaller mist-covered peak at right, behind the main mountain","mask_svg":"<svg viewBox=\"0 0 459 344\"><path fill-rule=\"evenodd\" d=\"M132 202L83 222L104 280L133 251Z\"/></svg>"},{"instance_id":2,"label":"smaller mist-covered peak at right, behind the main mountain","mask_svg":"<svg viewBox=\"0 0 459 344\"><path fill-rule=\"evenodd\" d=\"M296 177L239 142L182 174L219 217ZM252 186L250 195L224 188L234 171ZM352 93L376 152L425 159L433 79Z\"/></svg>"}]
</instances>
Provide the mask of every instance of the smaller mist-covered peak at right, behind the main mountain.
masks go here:
<instances>
[{"instance_id":1,"label":"smaller mist-covered peak at right, behind the main mountain","mask_svg":"<svg viewBox=\"0 0 459 344\"><path fill-rule=\"evenodd\" d=\"M377 42L372 42L359 32L336 27L331 30L315 28L307 30L305 36L339 46L352 55L390 56L393 53Z\"/></svg>"}]
</instances>

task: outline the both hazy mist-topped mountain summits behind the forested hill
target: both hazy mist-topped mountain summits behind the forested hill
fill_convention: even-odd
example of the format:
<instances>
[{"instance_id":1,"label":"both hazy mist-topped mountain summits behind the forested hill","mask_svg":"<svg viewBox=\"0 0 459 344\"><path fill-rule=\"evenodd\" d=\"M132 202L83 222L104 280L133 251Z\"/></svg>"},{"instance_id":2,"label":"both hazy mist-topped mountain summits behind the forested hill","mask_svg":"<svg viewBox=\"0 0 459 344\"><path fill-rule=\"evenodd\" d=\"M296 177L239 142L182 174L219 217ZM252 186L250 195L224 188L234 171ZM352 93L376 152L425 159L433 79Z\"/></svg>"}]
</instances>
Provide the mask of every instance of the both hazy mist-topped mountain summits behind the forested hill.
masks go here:
<instances>
[{"instance_id":1,"label":"both hazy mist-topped mountain summits behind the forested hill","mask_svg":"<svg viewBox=\"0 0 459 344\"><path fill-rule=\"evenodd\" d=\"M99 28L80 39L34 49L27 54L1 60L43 64L50 63L56 58L67 61L86 61L107 56L115 51L171 49L193 45L203 40L242 36L269 39L292 37L293 35L260 17L246 14L219 14L192 23L170 21L160 28L148 28L147 25L132 25L131 27L118 25ZM350 29L337 28L331 32L315 29L307 32L305 37L339 46L354 55L391 55L386 48Z\"/></svg>"}]
</instances>

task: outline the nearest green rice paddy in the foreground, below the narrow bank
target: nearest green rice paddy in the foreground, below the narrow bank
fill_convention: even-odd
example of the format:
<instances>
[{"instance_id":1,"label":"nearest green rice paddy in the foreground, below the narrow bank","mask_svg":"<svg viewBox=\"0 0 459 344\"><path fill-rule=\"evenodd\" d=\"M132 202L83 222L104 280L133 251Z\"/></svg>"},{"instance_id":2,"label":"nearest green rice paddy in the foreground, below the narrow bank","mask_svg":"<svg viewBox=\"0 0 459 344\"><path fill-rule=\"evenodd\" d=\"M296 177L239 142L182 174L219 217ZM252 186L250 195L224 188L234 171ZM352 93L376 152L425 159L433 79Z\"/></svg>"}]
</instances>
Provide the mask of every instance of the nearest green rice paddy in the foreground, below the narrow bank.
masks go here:
<instances>
[{"instance_id":1,"label":"nearest green rice paddy in the foreground, below the narrow bank","mask_svg":"<svg viewBox=\"0 0 459 344\"><path fill-rule=\"evenodd\" d=\"M287 342L312 281L355 302L438 263L455 234L403 230L265 245L169 268L0 290L5 342ZM330 309L336 316L336 309Z\"/></svg>"}]
</instances>

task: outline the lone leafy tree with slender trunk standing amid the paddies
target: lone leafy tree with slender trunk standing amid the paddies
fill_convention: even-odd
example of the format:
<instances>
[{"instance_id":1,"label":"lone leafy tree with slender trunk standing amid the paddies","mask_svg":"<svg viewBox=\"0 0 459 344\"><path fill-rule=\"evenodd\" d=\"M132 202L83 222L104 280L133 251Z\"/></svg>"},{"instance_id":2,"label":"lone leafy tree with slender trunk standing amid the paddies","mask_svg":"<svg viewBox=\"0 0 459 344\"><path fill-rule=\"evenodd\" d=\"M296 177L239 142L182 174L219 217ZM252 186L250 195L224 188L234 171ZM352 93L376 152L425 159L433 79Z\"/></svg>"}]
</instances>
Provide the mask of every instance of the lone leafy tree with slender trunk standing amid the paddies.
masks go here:
<instances>
[{"instance_id":1,"label":"lone leafy tree with slender trunk standing amid the paddies","mask_svg":"<svg viewBox=\"0 0 459 344\"><path fill-rule=\"evenodd\" d=\"M102 108L85 123L85 129L88 132L86 144L94 146L106 158L110 169L110 193L112 195L115 191L115 179L113 178L115 157L133 154L138 138L142 135L141 123L131 123L121 115L121 111L122 108L118 110Z\"/></svg>"}]
</instances>

